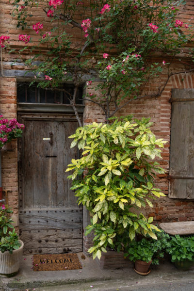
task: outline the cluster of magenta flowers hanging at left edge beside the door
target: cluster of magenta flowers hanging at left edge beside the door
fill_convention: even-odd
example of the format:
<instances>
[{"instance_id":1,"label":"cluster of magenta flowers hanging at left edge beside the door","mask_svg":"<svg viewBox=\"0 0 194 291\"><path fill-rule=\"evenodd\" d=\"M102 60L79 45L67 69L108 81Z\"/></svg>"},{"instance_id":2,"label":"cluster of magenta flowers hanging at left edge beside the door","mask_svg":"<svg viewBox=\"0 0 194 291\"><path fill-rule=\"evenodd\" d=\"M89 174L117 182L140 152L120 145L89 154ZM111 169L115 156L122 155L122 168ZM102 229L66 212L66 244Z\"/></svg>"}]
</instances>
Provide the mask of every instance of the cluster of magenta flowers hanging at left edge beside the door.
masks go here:
<instances>
[{"instance_id":1,"label":"cluster of magenta flowers hanging at left edge beside the door","mask_svg":"<svg viewBox=\"0 0 194 291\"><path fill-rule=\"evenodd\" d=\"M8 119L3 118L3 115L0 115L0 149L5 149L4 146L11 142L13 139L22 136L22 132L25 126L17 122L16 118ZM10 146L9 150L12 150Z\"/></svg>"}]
</instances>

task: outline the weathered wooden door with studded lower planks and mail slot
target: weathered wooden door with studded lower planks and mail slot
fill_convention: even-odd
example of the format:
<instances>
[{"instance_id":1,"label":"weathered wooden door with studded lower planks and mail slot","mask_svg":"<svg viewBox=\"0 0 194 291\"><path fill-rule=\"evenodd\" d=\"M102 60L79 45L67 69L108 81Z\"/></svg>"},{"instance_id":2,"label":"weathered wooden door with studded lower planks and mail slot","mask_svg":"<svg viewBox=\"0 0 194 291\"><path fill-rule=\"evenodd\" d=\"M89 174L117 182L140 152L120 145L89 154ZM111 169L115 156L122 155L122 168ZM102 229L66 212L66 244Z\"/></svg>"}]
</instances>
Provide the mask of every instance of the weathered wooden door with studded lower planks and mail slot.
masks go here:
<instances>
[{"instance_id":1,"label":"weathered wooden door with studded lower planks and mail slot","mask_svg":"<svg viewBox=\"0 0 194 291\"><path fill-rule=\"evenodd\" d=\"M65 169L77 158L68 136L75 119L19 114L25 124L19 142L19 233L25 253L82 251L82 209Z\"/></svg>"}]
</instances>

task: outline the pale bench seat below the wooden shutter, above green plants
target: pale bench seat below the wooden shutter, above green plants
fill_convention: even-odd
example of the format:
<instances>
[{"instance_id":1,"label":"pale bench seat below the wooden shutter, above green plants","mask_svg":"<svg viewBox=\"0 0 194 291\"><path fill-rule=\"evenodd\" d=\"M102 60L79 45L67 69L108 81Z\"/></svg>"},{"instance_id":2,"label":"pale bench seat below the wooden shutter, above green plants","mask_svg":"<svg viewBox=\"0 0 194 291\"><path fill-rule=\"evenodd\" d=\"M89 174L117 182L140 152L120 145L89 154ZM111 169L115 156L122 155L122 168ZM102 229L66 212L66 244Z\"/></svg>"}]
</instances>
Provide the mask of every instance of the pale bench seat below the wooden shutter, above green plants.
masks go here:
<instances>
[{"instance_id":1,"label":"pale bench seat below the wooden shutter, above green plants","mask_svg":"<svg viewBox=\"0 0 194 291\"><path fill-rule=\"evenodd\" d=\"M159 226L170 235L189 235L194 234L194 221L166 222Z\"/></svg>"}]
</instances>

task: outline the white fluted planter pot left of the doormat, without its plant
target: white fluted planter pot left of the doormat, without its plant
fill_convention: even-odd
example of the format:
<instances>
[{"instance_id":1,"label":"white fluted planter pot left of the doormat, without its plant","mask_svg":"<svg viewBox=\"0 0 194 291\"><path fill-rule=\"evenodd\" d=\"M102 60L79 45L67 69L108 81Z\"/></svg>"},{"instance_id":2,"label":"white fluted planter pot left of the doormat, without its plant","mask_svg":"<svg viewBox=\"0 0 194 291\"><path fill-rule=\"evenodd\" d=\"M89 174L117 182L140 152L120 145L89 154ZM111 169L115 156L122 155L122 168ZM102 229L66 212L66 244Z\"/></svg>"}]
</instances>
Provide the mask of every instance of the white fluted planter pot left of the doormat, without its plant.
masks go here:
<instances>
[{"instance_id":1,"label":"white fluted planter pot left of the doormat, without its plant","mask_svg":"<svg viewBox=\"0 0 194 291\"><path fill-rule=\"evenodd\" d=\"M18 250L14 250L12 254L9 252L0 252L0 275L10 277L16 275L19 270L19 263L23 255L24 243L20 241L21 246Z\"/></svg>"}]
</instances>

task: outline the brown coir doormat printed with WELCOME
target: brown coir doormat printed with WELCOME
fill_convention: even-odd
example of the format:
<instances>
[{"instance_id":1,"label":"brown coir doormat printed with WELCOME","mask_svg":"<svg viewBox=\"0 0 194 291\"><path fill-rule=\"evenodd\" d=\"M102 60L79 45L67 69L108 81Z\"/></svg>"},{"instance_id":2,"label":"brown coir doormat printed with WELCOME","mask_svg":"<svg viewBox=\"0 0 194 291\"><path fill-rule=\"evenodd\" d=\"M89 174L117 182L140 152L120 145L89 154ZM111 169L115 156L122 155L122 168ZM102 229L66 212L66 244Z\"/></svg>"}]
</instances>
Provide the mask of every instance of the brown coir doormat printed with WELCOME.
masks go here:
<instances>
[{"instance_id":1,"label":"brown coir doormat printed with WELCOME","mask_svg":"<svg viewBox=\"0 0 194 291\"><path fill-rule=\"evenodd\" d=\"M77 254L33 255L33 271L82 269Z\"/></svg>"}]
</instances>

